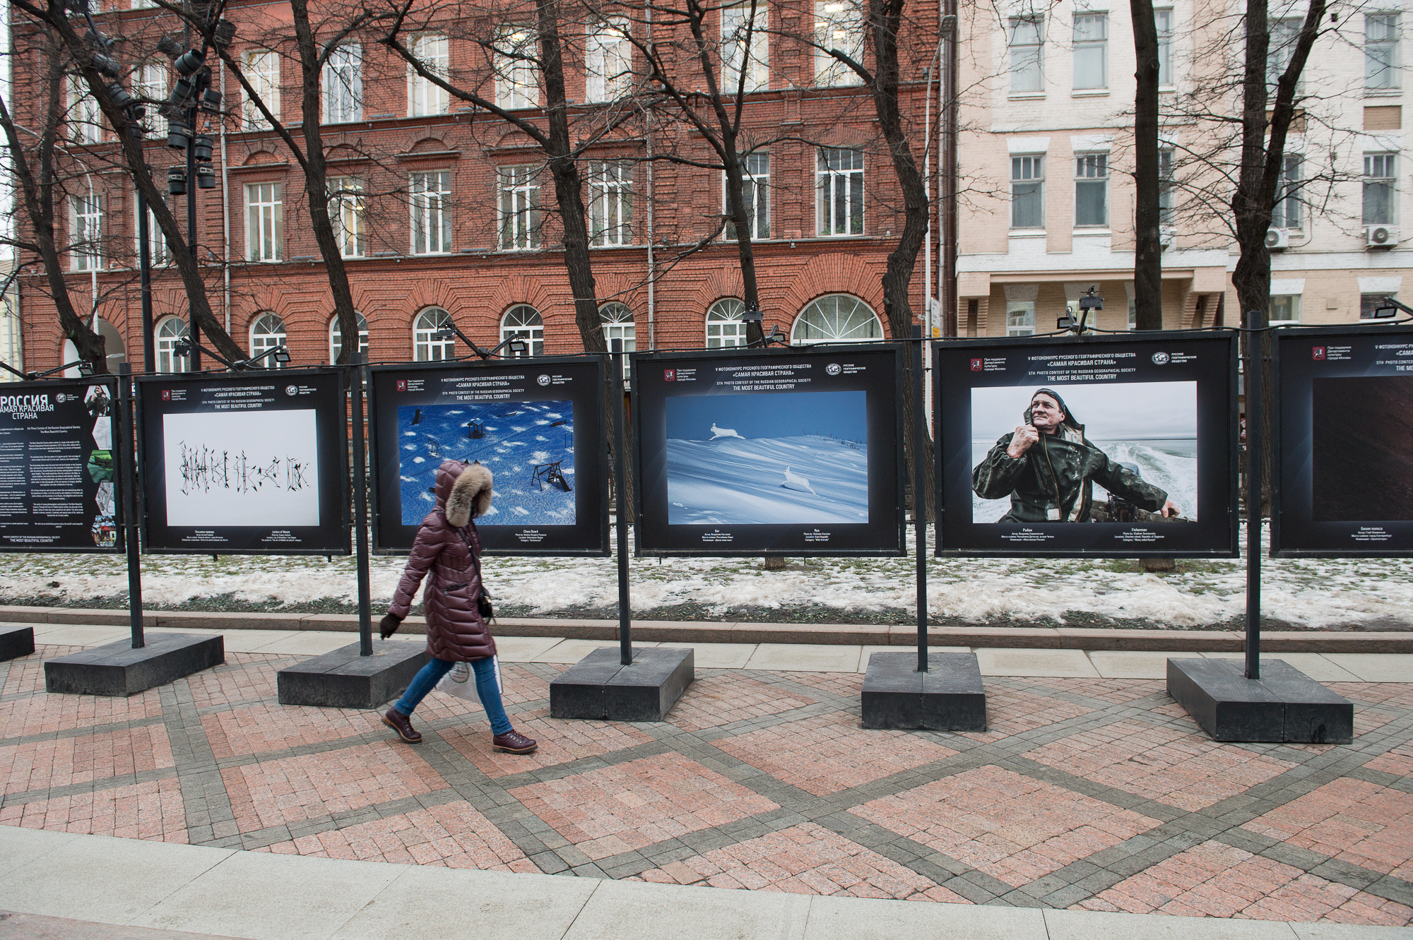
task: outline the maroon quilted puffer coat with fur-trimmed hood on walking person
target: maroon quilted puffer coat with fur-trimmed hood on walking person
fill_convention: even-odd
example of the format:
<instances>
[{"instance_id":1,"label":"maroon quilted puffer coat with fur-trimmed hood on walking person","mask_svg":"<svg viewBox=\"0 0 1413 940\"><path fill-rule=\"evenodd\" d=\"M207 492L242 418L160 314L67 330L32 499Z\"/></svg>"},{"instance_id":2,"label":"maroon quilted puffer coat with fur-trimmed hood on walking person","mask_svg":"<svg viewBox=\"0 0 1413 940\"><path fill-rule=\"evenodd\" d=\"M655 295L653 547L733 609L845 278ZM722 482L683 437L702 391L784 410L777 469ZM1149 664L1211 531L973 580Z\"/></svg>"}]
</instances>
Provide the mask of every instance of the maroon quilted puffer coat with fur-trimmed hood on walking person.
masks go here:
<instances>
[{"instance_id":1,"label":"maroon quilted puffer coat with fur-trimmed hood on walking person","mask_svg":"<svg viewBox=\"0 0 1413 940\"><path fill-rule=\"evenodd\" d=\"M496 641L476 610L480 596L480 538L472 517L490 508L490 470L479 463L444 460L437 467L437 508L417 529L413 553L387 613L407 617L417 586L427 614L427 652L468 662L496 655Z\"/></svg>"}]
</instances>

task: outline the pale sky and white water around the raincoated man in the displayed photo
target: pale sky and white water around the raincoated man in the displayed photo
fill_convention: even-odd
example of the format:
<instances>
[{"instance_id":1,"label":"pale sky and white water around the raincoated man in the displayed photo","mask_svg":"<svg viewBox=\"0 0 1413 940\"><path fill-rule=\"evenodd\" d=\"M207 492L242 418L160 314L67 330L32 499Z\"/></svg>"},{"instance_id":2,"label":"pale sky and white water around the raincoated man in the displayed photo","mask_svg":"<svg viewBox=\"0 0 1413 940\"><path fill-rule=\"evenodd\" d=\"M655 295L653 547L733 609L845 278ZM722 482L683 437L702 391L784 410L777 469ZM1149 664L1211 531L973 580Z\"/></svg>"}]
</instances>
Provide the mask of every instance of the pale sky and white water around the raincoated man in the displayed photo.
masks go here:
<instances>
[{"instance_id":1,"label":"pale sky and white water around the raincoated man in the displayed photo","mask_svg":"<svg viewBox=\"0 0 1413 940\"><path fill-rule=\"evenodd\" d=\"M1023 422L1040 385L972 388L972 463ZM1184 519L1197 519L1197 382L1067 382L1048 385L1072 409L1088 443L1116 463L1133 464L1167 491ZM1130 466L1132 469L1132 466ZM1094 484L1094 501L1109 494ZM1010 500L972 493L972 521L995 522Z\"/></svg>"}]
</instances>

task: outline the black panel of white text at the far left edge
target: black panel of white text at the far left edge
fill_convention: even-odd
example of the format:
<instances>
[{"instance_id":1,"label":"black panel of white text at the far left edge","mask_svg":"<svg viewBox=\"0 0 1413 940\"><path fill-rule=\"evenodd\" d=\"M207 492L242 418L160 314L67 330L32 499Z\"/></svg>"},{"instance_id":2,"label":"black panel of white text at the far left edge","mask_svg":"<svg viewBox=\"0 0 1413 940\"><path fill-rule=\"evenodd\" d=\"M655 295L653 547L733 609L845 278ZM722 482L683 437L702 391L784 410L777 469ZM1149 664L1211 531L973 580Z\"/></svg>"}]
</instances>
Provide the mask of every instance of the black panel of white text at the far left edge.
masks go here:
<instances>
[{"instance_id":1,"label":"black panel of white text at the far left edge","mask_svg":"<svg viewBox=\"0 0 1413 940\"><path fill-rule=\"evenodd\" d=\"M112 377L8 382L0 394L0 549L117 552Z\"/></svg>"}]
</instances>

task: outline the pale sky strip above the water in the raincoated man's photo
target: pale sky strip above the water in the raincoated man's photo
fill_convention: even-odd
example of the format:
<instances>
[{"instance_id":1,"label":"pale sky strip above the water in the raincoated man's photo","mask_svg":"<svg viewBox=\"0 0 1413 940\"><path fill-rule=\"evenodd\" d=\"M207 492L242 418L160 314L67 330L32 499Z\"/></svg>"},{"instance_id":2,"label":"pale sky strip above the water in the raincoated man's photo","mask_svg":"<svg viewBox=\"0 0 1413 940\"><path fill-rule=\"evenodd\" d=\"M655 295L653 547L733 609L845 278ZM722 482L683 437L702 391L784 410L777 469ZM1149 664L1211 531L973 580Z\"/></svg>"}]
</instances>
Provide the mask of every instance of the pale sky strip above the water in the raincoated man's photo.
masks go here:
<instances>
[{"instance_id":1,"label":"pale sky strip above the water in the raincoated man's photo","mask_svg":"<svg viewBox=\"0 0 1413 940\"><path fill-rule=\"evenodd\" d=\"M995 443L1015 430L1040 387L972 388L972 440ZM1074 409L1092 440L1197 436L1197 382L1070 382L1047 388Z\"/></svg>"}]
</instances>

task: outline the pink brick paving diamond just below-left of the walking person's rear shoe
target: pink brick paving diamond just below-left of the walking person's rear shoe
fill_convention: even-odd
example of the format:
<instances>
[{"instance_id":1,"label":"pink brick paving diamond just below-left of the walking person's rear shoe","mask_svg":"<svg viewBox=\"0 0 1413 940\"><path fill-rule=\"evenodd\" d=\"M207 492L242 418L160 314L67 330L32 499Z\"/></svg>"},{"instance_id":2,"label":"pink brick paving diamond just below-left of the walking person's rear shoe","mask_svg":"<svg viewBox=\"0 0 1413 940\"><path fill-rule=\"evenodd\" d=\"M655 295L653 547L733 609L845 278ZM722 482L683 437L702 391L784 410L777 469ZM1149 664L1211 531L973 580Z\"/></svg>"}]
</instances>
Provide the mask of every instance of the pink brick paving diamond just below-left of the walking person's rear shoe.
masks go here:
<instances>
[{"instance_id":1,"label":"pink brick paving diamond just below-left of the walking person's rear shoe","mask_svg":"<svg viewBox=\"0 0 1413 940\"><path fill-rule=\"evenodd\" d=\"M229 766L220 778L242 833L445 786L410 745L394 741Z\"/></svg>"}]
</instances>

